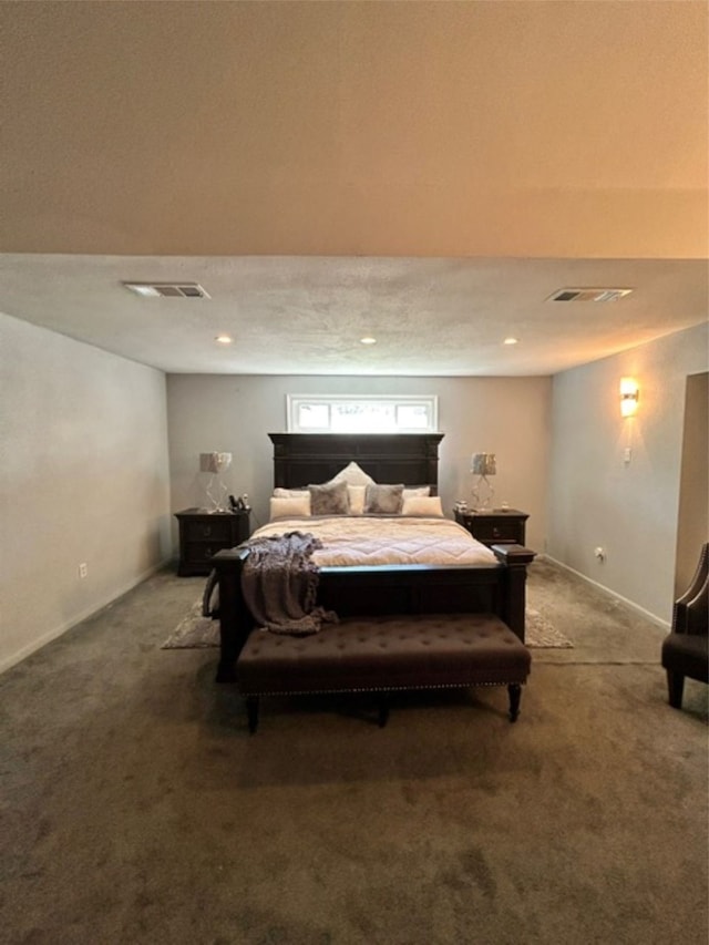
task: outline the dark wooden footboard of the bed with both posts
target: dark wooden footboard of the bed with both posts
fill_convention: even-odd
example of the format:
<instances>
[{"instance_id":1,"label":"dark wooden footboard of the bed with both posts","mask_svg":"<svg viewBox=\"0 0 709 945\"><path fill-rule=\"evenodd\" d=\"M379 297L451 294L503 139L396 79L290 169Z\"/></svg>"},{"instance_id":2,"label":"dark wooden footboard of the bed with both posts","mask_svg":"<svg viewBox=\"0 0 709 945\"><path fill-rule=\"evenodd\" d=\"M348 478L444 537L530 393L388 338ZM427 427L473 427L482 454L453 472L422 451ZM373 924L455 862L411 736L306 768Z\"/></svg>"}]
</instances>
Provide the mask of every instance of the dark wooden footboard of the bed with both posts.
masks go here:
<instances>
[{"instance_id":1,"label":"dark wooden footboard of the bed with both posts","mask_svg":"<svg viewBox=\"0 0 709 945\"><path fill-rule=\"evenodd\" d=\"M480 567L392 565L322 567L318 603L340 616L383 614L495 614L524 643L527 565L534 552L522 545L494 545L495 564ZM248 548L218 552L220 655L217 682L235 681L236 659L254 628L242 595Z\"/></svg>"}]
</instances>

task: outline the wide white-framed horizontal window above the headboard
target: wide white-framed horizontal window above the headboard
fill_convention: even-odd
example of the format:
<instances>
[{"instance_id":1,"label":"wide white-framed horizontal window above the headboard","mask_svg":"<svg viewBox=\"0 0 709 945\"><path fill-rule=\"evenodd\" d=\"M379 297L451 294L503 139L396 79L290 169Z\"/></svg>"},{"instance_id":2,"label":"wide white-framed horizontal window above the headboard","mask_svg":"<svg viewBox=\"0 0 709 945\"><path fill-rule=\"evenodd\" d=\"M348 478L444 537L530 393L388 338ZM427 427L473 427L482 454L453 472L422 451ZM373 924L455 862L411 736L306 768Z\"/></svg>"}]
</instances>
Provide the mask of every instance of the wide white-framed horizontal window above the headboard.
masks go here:
<instances>
[{"instance_id":1,"label":"wide white-framed horizontal window above the headboard","mask_svg":"<svg viewBox=\"0 0 709 945\"><path fill-rule=\"evenodd\" d=\"M289 433L435 433L438 397L288 394Z\"/></svg>"}]
</instances>

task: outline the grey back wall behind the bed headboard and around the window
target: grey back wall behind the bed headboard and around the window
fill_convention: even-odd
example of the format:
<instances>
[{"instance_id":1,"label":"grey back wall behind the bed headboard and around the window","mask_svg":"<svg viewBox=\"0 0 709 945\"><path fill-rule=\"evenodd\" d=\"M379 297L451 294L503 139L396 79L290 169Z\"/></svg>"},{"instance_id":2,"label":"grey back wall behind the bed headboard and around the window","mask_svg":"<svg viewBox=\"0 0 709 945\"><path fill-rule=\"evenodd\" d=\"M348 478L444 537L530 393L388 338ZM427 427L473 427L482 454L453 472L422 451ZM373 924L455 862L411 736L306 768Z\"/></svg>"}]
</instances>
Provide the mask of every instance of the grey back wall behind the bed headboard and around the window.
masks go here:
<instances>
[{"instance_id":1,"label":"grey back wall behind the bed headboard and around the window","mask_svg":"<svg viewBox=\"0 0 709 945\"><path fill-rule=\"evenodd\" d=\"M549 378L332 378L168 374L167 418L172 507L205 502L201 452L234 454L224 480L251 497L255 523L266 521L273 487L269 432L286 429L288 393L438 394L439 491L450 510L470 500L470 454L497 454L495 500L530 513L527 544L545 534Z\"/></svg>"}]
</instances>

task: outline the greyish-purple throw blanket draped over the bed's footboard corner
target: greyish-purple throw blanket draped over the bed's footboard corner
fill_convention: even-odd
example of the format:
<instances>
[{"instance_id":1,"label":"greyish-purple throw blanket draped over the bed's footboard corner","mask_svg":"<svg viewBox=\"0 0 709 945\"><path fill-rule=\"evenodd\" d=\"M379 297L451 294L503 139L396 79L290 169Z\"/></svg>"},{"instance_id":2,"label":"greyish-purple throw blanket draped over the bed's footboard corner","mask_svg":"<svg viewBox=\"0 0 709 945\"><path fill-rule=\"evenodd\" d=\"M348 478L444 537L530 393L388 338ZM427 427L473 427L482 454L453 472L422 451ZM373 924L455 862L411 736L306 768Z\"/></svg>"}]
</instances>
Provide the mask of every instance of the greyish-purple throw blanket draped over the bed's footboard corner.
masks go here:
<instances>
[{"instance_id":1,"label":"greyish-purple throw blanket draped over the bed's footboard corner","mask_svg":"<svg viewBox=\"0 0 709 945\"><path fill-rule=\"evenodd\" d=\"M314 535L288 532L253 538L242 571L242 590L257 626L276 634L317 634L331 610L316 607L318 568L312 552L322 547Z\"/></svg>"}]
</instances>

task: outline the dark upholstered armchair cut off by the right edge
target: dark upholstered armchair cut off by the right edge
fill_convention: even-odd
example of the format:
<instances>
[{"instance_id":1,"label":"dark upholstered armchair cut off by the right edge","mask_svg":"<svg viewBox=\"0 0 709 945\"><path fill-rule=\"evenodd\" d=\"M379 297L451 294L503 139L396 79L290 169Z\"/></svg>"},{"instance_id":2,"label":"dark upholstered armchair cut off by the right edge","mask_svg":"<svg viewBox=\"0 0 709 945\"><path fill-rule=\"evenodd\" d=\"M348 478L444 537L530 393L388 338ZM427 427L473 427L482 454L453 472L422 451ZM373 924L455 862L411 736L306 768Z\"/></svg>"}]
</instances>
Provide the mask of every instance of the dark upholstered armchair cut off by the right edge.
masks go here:
<instances>
[{"instance_id":1,"label":"dark upholstered armchair cut off by the right edge","mask_svg":"<svg viewBox=\"0 0 709 945\"><path fill-rule=\"evenodd\" d=\"M671 633L662 640L669 703L681 709L685 677L709 682L709 543L702 545L697 572L675 602Z\"/></svg>"}]
</instances>

